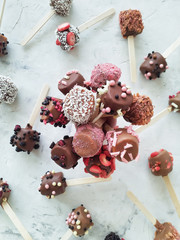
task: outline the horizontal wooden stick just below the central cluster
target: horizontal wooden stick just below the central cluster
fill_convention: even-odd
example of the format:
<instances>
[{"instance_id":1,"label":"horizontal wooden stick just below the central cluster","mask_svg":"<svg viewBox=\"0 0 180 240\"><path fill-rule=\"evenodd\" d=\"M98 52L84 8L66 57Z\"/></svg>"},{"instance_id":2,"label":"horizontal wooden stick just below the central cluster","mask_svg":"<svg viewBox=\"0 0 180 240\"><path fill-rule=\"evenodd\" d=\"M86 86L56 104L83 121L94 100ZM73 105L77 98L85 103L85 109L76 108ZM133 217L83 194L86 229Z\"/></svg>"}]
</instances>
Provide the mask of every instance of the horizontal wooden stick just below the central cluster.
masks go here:
<instances>
[{"instance_id":1,"label":"horizontal wooden stick just below the central cluster","mask_svg":"<svg viewBox=\"0 0 180 240\"><path fill-rule=\"evenodd\" d=\"M99 183L99 182L108 182L112 179L112 177L108 178L95 178L95 177L88 177L88 178L77 178L77 179L70 179L66 180L68 186L76 186L82 184L91 184L91 183Z\"/></svg>"}]
</instances>

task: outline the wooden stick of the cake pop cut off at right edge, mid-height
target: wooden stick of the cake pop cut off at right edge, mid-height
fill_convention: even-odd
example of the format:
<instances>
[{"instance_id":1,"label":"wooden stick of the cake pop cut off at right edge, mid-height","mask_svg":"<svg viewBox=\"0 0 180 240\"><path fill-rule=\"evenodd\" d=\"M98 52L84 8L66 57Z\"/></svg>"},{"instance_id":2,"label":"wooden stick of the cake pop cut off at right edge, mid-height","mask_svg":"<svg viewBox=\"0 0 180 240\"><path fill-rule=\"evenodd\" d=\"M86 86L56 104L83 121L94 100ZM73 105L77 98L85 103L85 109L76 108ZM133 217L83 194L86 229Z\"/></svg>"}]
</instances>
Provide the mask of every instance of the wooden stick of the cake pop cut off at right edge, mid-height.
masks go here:
<instances>
[{"instance_id":1,"label":"wooden stick of the cake pop cut off at right edge, mid-height","mask_svg":"<svg viewBox=\"0 0 180 240\"><path fill-rule=\"evenodd\" d=\"M140 127L136 128L136 129L135 129L135 132L141 133L141 132L144 131L146 128L148 128L148 127L150 127L151 125L153 125L154 123L156 123L159 119L161 119L161 118L163 118L164 116L166 116L167 114L169 114L171 111L172 111L172 107L167 107L167 108L165 108L163 111L161 111L161 112L158 113L156 116L154 116L147 125L143 125L143 126L140 126Z\"/></svg>"}]
</instances>

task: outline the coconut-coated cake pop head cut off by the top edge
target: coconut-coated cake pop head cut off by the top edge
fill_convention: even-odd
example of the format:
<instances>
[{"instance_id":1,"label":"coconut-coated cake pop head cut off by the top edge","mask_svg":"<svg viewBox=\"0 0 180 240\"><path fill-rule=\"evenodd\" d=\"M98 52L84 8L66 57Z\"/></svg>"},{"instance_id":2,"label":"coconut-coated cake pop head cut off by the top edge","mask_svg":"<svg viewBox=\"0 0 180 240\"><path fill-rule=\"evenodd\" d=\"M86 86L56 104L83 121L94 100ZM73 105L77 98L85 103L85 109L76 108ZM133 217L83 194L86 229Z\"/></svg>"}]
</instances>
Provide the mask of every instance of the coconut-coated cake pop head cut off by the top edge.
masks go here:
<instances>
[{"instance_id":1,"label":"coconut-coated cake pop head cut off by the top edge","mask_svg":"<svg viewBox=\"0 0 180 240\"><path fill-rule=\"evenodd\" d=\"M50 0L50 6L61 16L68 16L72 5L72 0Z\"/></svg>"}]
</instances>

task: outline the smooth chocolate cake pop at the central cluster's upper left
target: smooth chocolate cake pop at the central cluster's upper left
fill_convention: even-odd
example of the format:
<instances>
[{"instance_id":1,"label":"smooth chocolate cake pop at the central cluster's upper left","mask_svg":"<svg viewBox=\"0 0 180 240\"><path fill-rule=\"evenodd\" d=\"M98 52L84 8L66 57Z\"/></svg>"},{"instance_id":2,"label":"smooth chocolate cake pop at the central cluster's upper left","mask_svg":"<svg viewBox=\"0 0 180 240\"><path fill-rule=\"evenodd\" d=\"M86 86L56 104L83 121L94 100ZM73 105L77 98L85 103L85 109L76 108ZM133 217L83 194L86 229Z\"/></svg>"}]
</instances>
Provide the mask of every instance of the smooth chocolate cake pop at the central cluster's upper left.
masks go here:
<instances>
[{"instance_id":1,"label":"smooth chocolate cake pop at the central cluster's upper left","mask_svg":"<svg viewBox=\"0 0 180 240\"><path fill-rule=\"evenodd\" d=\"M69 71L59 81L58 89L66 95L75 85L84 87L84 81L84 77L77 70Z\"/></svg>"}]
</instances>

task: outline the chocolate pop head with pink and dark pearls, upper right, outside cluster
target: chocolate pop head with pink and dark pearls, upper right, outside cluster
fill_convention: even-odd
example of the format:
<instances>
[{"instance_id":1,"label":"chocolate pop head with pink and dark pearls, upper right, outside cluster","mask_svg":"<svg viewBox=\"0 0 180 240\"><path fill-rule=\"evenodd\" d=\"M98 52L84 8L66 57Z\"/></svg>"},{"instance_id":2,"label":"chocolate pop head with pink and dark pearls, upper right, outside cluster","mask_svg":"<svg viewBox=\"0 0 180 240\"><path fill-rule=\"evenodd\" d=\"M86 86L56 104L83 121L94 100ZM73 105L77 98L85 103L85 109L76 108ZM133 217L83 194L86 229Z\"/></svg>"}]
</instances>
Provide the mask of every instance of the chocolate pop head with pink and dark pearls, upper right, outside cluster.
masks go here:
<instances>
[{"instance_id":1,"label":"chocolate pop head with pink and dark pearls, upper right, outside cluster","mask_svg":"<svg viewBox=\"0 0 180 240\"><path fill-rule=\"evenodd\" d=\"M158 52L148 53L145 61L140 66L140 71L146 79L159 78L162 72L168 68L166 59Z\"/></svg>"}]
</instances>

